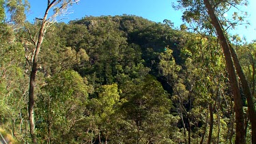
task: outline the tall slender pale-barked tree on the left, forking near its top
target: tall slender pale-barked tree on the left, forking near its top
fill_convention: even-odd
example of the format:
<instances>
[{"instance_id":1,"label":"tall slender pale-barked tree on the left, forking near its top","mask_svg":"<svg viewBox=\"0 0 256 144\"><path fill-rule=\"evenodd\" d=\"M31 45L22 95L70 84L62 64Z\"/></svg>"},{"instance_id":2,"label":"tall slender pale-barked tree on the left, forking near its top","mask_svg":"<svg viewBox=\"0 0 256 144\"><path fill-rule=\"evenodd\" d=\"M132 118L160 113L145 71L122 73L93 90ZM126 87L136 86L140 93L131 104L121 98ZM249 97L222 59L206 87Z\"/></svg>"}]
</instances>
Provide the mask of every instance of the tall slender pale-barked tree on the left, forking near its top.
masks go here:
<instances>
[{"instance_id":1,"label":"tall slender pale-barked tree on the left, forking near its top","mask_svg":"<svg viewBox=\"0 0 256 144\"><path fill-rule=\"evenodd\" d=\"M35 95L35 76L36 72L38 71L38 56L40 53L40 48L42 46L42 42L44 40L44 35L46 33L46 30L55 22L55 18L59 16L60 14L63 14L63 12L66 12L68 7L72 5L72 3L76 3L79 0L48 0L46 10L44 12L44 16L42 20L40 20L40 29L38 30L38 35L37 37L32 37L31 32L29 29L29 35L31 38L31 41L33 43L33 55L31 59L31 70L30 70L30 76L29 76L29 106L28 106L28 111L29 111L29 122L30 122L30 133L31 133L31 139L33 143L36 143L36 136L35 136L35 121L34 121L34 116L33 116L33 107L34 107L34 95ZM53 10L53 15L48 18L48 13L51 11L51 9L54 8Z\"/></svg>"}]
</instances>

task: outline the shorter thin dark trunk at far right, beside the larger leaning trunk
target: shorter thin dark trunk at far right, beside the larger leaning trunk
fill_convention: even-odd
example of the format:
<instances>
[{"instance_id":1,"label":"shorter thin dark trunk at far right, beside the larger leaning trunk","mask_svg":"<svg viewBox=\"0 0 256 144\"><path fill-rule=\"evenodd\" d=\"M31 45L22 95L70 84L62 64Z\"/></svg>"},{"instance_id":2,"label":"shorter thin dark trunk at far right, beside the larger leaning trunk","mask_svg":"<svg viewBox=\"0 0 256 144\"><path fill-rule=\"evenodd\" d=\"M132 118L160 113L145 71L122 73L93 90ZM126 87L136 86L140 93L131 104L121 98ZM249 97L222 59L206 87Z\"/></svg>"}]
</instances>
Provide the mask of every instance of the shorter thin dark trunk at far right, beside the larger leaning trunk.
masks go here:
<instances>
[{"instance_id":1,"label":"shorter thin dark trunk at far right, beside the larger leaning trunk","mask_svg":"<svg viewBox=\"0 0 256 144\"><path fill-rule=\"evenodd\" d=\"M256 111L255 111L255 106L254 106L254 102L253 102L253 95L251 93L251 88L248 85L248 82L246 80L244 72L242 71L240 63L238 61L238 57L236 56L235 50L231 46L229 46L229 48L231 51L231 55L233 57L233 62L236 67L236 72L238 73L238 76L242 83L242 90L247 99L248 113L249 113L248 117L251 121L251 127L252 127L252 143L256 143ZM254 72L255 72L255 70L253 70L253 73Z\"/></svg>"}]
</instances>

